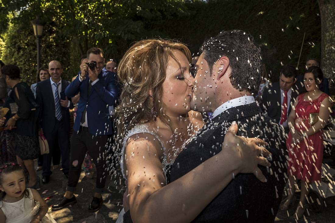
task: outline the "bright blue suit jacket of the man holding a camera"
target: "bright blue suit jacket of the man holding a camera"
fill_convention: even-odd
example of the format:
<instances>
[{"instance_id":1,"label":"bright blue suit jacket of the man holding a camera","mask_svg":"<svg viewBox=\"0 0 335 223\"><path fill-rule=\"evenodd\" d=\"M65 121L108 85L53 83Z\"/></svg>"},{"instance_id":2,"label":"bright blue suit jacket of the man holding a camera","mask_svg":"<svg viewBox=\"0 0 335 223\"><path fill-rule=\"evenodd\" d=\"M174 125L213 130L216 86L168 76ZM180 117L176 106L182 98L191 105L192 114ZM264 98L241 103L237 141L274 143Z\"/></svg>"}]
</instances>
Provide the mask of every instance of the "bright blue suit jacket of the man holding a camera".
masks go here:
<instances>
[{"instance_id":1,"label":"bright blue suit jacket of the man holding a camera","mask_svg":"<svg viewBox=\"0 0 335 223\"><path fill-rule=\"evenodd\" d=\"M87 125L88 131L95 135L113 134L113 123L109 117L108 106L115 104L118 98L118 87L116 85L116 73L110 71L101 71L98 75L98 81L92 85L91 93L88 92L88 74L86 79L79 81L79 76L65 89L65 95L73 97L80 93L78 102L77 116L73 125L73 130L78 131L80 120L85 107L87 107Z\"/></svg>"}]
</instances>

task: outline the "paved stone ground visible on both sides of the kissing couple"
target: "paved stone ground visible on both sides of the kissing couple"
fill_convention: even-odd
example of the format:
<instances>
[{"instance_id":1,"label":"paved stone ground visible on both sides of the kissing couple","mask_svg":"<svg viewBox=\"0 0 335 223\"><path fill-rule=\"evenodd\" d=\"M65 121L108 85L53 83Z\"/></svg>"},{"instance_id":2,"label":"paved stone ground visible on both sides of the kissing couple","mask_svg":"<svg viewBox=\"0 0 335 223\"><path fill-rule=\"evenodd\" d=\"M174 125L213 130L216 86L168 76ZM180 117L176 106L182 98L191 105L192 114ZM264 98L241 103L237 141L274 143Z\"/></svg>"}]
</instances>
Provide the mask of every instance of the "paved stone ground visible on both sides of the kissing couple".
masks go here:
<instances>
[{"instance_id":1,"label":"paved stone ground visible on both sides of the kissing couple","mask_svg":"<svg viewBox=\"0 0 335 223\"><path fill-rule=\"evenodd\" d=\"M38 174L41 176L42 171ZM94 175L95 176L95 175ZM44 199L47 200L49 207L57 203L58 199L61 199L64 195L66 188L67 179L62 174L62 171L57 169L53 171L50 182L46 185L42 184L40 194ZM51 211L49 208L49 214L58 223L107 223L115 222L118 213L122 209L122 195L119 193L120 182L107 180L107 186L105 193L103 193L104 204L97 213L89 213L88 205L92 200L95 178L87 179L84 172L81 172L77 191L75 196L77 198L77 204L72 207L64 208L58 211ZM335 222L335 197L327 198L327 207L323 209L321 213L315 213L309 211L310 216L307 216L306 221L304 219L299 220L298 223L309 222L309 223L334 223ZM292 215L295 211L295 207L291 207L288 213ZM279 211L275 220L276 223L295 223L293 217L288 217L286 211Z\"/></svg>"}]
</instances>

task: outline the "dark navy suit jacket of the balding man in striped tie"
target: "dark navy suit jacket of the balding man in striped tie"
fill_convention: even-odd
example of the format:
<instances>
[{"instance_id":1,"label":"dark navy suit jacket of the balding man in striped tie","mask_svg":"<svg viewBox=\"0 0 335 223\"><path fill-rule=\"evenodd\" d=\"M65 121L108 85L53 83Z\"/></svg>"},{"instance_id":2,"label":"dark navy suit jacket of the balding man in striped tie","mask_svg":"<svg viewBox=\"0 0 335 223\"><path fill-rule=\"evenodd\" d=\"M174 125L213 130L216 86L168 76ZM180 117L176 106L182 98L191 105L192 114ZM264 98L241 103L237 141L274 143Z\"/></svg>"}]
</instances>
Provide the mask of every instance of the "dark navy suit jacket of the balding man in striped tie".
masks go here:
<instances>
[{"instance_id":1,"label":"dark navy suit jacket of the balding man in striped tie","mask_svg":"<svg viewBox=\"0 0 335 223\"><path fill-rule=\"evenodd\" d=\"M69 82L62 79L62 91L69 85ZM71 98L69 98L71 100ZM56 123L56 108L54 94L51 88L50 78L37 83L36 87L36 102L40 105L40 127L43 128L43 132L51 133ZM65 129L70 133L70 112L69 108L73 108L72 102L70 107L62 107L62 121L64 122Z\"/></svg>"}]
</instances>

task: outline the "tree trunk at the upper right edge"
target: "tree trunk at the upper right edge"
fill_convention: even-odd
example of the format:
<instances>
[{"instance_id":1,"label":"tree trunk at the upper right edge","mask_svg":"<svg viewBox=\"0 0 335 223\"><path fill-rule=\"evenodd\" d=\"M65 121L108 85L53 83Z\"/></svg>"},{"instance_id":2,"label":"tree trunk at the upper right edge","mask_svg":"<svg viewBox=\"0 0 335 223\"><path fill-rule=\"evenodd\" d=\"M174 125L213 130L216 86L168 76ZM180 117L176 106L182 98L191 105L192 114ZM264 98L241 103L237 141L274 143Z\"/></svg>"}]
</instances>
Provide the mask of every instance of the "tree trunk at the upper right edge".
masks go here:
<instances>
[{"instance_id":1,"label":"tree trunk at the upper right edge","mask_svg":"<svg viewBox=\"0 0 335 223\"><path fill-rule=\"evenodd\" d=\"M321 68L334 88L330 79L335 77L335 0L318 0L318 4L321 15Z\"/></svg>"}]
</instances>

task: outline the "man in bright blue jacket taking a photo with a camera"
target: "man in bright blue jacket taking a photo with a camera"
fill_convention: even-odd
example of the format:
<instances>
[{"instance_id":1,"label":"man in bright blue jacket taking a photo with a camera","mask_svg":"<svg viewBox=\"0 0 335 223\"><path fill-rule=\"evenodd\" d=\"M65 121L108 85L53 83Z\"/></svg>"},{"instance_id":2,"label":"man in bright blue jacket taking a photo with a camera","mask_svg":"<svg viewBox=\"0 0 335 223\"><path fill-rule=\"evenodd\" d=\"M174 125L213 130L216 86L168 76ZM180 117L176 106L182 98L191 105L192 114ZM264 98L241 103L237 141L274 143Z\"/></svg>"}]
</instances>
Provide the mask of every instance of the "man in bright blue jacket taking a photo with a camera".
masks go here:
<instances>
[{"instance_id":1,"label":"man in bright blue jacket taking a photo with a camera","mask_svg":"<svg viewBox=\"0 0 335 223\"><path fill-rule=\"evenodd\" d=\"M102 49L91 48L86 56L87 59L80 65L80 74L65 89L68 97L80 93L80 99L71 138L70 172L66 192L64 198L52 206L52 210L77 203L73 192L79 180L86 151L92 157L97 172L95 193L88 210L95 212L103 203L101 193L107 177L105 144L113 134L113 123L108 108L115 104L118 88L116 74L103 70L105 59Z\"/></svg>"}]
</instances>

